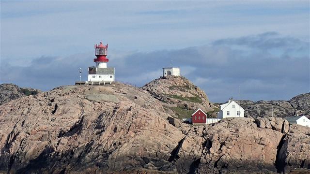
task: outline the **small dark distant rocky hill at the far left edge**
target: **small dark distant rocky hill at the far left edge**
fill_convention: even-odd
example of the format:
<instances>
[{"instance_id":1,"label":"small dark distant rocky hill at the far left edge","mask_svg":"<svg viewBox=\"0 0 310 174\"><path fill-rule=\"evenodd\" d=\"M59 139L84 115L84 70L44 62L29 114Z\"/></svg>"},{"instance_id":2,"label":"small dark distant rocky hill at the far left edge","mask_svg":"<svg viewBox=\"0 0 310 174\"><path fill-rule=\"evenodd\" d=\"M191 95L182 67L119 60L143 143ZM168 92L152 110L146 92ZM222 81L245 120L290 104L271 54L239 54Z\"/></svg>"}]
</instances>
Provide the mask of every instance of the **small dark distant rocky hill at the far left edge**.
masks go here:
<instances>
[{"instance_id":1,"label":"small dark distant rocky hill at the far left edge","mask_svg":"<svg viewBox=\"0 0 310 174\"><path fill-rule=\"evenodd\" d=\"M21 97L36 95L39 92L41 91L29 87L22 88L14 84L0 84L0 105Z\"/></svg>"}]
</instances>

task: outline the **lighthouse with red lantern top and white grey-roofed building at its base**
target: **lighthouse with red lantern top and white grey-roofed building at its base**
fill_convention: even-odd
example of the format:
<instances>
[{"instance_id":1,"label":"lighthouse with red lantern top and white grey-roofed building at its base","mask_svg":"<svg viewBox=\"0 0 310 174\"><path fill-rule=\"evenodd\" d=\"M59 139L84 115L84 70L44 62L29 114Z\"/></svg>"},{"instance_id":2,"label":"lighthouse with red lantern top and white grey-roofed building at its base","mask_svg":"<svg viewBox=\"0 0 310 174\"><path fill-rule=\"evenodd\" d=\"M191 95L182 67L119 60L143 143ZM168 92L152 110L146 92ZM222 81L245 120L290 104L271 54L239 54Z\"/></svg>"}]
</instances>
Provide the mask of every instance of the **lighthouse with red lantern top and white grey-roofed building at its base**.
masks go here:
<instances>
[{"instance_id":1,"label":"lighthouse with red lantern top and white grey-roofed building at its base","mask_svg":"<svg viewBox=\"0 0 310 174\"><path fill-rule=\"evenodd\" d=\"M88 83L94 84L111 84L115 79L115 68L108 68L108 44L95 44L95 56L93 59L96 66L88 67Z\"/></svg>"}]
</instances>

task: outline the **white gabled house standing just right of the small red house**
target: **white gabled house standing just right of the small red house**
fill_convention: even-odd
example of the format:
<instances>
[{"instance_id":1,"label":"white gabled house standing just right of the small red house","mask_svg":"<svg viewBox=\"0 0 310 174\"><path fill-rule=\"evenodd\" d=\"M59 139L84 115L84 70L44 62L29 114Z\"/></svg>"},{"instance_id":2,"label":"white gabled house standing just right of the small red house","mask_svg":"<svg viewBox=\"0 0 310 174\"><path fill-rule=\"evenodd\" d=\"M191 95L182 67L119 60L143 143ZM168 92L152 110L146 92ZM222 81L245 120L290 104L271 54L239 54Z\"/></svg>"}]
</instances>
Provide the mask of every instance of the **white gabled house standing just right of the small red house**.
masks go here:
<instances>
[{"instance_id":1,"label":"white gabled house standing just right of the small red house","mask_svg":"<svg viewBox=\"0 0 310 174\"><path fill-rule=\"evenodd\" d=\"M217 118L244 117L244 109L233 98L227 103L220 105L220 111L217 112Z\"/></svg>"}]
</instances>

